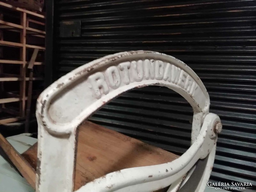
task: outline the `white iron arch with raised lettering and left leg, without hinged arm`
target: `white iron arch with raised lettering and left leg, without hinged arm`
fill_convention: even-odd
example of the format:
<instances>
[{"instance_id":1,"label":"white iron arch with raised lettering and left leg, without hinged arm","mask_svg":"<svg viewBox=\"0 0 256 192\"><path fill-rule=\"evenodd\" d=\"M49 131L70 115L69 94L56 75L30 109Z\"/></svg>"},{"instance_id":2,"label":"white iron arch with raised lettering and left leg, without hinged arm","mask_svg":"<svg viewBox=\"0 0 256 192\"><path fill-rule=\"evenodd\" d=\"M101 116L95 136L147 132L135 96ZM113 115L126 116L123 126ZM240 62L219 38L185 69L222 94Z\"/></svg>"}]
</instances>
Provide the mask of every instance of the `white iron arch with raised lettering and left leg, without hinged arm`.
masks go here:
<instances>
[{"instance_id":1,"label":"white iron arch with raised lettering and left leg, without hinged arm","mask_svg":"<svg viewBox=\"0 0 256 192\"><path fill-rule=\"evenodd\" d=\"M169 87L188 100L194 109L194 142L210 105L209 95L196 73L182 61L158 52L133 51L108 55L61 77L39 96L36 117L41 171L38 169L36 190L71 192L76 127L122 92L147 85ZM73 111L70 111L71 108ZM54 150L49 143L55 146ZM191 151L200 153L201 147L195 146L193 144L187 154L191 155ZM46 168L48 166L49 169L49 164L55 166L59 177L49 178L52 174L52 170ZM63 184L64 181L67 182Z\"/></svg>"}]
</instances>

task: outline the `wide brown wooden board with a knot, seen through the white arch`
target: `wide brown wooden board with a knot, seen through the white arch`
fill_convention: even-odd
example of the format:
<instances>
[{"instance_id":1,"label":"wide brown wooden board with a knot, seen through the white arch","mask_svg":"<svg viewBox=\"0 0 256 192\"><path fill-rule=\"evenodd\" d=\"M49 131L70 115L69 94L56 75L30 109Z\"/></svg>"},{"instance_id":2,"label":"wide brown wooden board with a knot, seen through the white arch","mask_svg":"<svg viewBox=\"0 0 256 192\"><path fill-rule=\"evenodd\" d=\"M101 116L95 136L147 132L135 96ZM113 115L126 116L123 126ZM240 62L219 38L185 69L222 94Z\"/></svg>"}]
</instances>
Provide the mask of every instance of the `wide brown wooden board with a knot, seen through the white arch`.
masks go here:
<instances>
[{"instance_id":1,"label":"wide brown wooden board with a knot, seen through the white arch","mask_svg":"<svg viewBox=\"0 0 256 192\"><path fill-rule=\"evenodd\" d=\"M78 130L75 190L110 172L163 164L179 157L88 121ZM37 143L22 154L34 169L36 154Z\"/></svg>"}]
</instances>

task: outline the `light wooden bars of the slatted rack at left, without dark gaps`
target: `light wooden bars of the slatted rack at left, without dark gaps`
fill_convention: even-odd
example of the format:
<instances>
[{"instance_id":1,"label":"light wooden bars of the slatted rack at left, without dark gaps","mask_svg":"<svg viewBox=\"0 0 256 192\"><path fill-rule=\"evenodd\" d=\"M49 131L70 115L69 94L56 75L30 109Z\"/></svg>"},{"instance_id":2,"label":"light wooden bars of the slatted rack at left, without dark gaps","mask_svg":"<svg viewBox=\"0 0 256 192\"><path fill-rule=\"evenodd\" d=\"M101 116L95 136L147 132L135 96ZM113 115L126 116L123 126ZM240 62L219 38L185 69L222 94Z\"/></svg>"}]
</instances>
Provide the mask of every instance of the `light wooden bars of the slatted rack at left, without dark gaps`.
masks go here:
<instances>
[{"instance_id":1,"label":"light wooden bars of the slatted rack at left, without dark gaps","mask_svg":"<svg viewBox=\"0 0 256 192\"><path fill-rule=\"evenodd\" d=\"M7 60L0 58L0 112L4 112L7 114L11 114L12 117L9 116L6 118L1 117L0 124L12 123L15 121L19 121L20 119L24 119L26 115L26 81L29 81L28 74L26 74L26 70L29 63L29 58L26 60L26 55L30 52L33 52L34 49L39 49L41 52L45 50L44 46L38 44L28 44L27 38L29 36L34 36L36 38L45 38L45 31L41 28L45 26L45 16L31 12L25 9L21 9L18 7L14 7L10 4L6 4L0 2L0 34L2 31L12 31L20 34L20 42L11 42L5 41L4 36L0 35L0 46L5 49L5 47L16 47L20 49L20 60ZM16 17L16 20L20 20L20 22L9 22L8 20L4 20L4 10L8 10L9 12L13 12L13 17ZM18 14L17 14L18 13ZM10 14L9 14L10 15ZM17 16L20 15L20 16ZM35 28L33 26L41 26L40 29ZM6 74L3 71L5 65L16 64L20 65L20 74ZM43 62L35 62L34 65L43 65ZM13 66L13 65L12 65ZM17 66L18 67L18 66ZM27 75L27 76L26 76ZM43 80L42 77L33 77L33 81ZM6 95L6 91L4 90L4 83L10 81L19 81L20 82L20 90L19 94L15 97L6 96L3 98L3 95ZM11 108L6 107L6 103L11 102L20 102L18 111L14 111Z\"/></svg>"}]
</instances>

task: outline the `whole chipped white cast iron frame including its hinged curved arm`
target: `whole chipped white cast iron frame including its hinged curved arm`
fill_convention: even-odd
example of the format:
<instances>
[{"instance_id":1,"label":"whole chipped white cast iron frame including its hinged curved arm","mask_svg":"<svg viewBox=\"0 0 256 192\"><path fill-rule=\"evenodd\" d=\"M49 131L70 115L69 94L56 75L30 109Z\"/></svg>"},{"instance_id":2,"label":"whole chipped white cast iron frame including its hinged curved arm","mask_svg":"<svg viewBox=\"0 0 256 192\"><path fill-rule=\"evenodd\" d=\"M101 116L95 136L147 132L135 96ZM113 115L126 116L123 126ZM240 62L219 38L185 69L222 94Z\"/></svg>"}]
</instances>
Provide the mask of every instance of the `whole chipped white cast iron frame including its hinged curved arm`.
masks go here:
<instances>
[{"instance_id":1,"label":"whole chipped white cast iron frame including its hinged curved arm","mask_svg":"<svg viewBox=\"0 0 256 192\"><path fill-rule=\"evenodd\" d=\"M199 159L208 157L195 191L203 192L216 150L209 95L196 73L182 61L162 53L131 51L87 63L50 85L37 99L37 192L72 192L76 128L102 105L135 87L166 86L194 110L191 147L178 159L153 166L112 172L87 183L78 192L152 192L179 189L182 178ZM136 190L135 190L136 189Z\"/></svg>"}]
</instances>

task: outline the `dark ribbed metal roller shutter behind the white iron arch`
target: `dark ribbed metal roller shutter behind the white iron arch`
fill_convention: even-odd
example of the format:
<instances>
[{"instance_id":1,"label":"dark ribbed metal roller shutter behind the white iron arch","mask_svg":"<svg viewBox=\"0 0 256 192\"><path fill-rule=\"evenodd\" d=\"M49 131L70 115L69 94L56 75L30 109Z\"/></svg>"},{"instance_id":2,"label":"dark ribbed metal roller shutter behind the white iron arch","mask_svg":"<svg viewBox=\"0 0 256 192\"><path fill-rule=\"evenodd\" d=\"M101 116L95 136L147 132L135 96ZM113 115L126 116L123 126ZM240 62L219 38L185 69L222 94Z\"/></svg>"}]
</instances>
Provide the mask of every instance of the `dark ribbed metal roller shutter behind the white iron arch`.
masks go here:
<instances>
[{"instance_id":1,"label":"dark ribbed metal roller shutter behind the white iron arch","mask_svg":"<svg viewBox=\"0 0 256 192\"><path fill-rule=\"evenodd\" d=\"M129 50L184 61L202 79L210 111L223 124L211 180L256 186L255 8L253 0L55 1L53 77ZM77 30L61 27L63 21L74 21ZM112 101L92 121L182 154L191 117L192 108L176 93L145 87Z\"/></svg>"}]
</instances>

